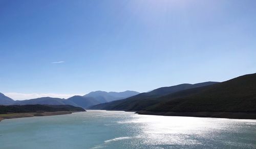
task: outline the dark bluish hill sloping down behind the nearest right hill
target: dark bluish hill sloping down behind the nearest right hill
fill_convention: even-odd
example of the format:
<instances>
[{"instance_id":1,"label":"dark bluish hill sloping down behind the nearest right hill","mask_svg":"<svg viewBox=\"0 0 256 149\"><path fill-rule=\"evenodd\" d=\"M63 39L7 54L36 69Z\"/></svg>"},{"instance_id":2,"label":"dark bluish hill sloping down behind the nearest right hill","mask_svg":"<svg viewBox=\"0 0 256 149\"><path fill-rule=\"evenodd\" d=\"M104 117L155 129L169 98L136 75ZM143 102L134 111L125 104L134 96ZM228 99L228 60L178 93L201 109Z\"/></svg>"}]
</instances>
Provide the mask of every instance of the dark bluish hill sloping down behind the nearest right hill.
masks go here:
<instances>
[{"instance_id":1,"label":"dark bluish hill sloping down behind the nearest right hill","mask_svg":"<svg viewBox=\"0 0 256 149\"><path fill-rule=\"evenodd\" d=\"M161 87L150 92L140 93L135 96L125 98L123 100L95 105L90 107L89 109L138 111L148 106L157 104L159 102L157 98L160 96L164 96L181 90L208 86L217 83L218 82L204 82L198 84L180 84L170 87Z\"/></svg>"}]
</instances>

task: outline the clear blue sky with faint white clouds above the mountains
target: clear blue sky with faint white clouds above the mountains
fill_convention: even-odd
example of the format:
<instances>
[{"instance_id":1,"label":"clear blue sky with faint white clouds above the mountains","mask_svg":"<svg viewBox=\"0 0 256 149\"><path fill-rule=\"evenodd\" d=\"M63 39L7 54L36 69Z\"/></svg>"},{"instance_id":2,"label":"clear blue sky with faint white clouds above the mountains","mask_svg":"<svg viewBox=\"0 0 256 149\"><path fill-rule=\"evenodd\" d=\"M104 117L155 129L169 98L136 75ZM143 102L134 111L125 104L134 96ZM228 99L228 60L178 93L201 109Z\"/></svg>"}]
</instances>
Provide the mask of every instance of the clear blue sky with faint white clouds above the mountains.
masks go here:
<instances>
[{"instance_id":1,"label":"clear blue sky with faint white clouds above the mountains","mask_svg":"<svg viewBox=\"0 0 256 149\"><path fill-rule=\"evenodd\" d=\"M256 1L0 0L0 92L146 92L256 72Z\"/></svg>"}]
</instances>

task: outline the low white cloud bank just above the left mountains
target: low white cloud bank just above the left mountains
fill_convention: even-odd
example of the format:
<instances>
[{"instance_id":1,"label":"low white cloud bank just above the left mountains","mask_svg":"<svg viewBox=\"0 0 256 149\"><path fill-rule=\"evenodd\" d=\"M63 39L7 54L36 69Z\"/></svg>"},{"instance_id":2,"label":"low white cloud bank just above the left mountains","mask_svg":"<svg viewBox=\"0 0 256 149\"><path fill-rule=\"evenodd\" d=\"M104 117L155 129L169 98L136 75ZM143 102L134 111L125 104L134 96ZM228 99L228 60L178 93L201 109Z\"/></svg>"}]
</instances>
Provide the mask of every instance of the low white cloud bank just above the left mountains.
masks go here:
<instances>
[{"instance_id":1,"label":"low white cloud bank just above the left mountains","mask_svg":"<svg viewBox=\"0 0 256 149\"><path fill-rule=\"evenodd\" d=\"M69 98L74 95L82 95L82 94L16 93L16 92L7 92L4 94L12 98L13 100L30 100L30 99L39 98L39 97Z\"/></svg>"}]
</instances>

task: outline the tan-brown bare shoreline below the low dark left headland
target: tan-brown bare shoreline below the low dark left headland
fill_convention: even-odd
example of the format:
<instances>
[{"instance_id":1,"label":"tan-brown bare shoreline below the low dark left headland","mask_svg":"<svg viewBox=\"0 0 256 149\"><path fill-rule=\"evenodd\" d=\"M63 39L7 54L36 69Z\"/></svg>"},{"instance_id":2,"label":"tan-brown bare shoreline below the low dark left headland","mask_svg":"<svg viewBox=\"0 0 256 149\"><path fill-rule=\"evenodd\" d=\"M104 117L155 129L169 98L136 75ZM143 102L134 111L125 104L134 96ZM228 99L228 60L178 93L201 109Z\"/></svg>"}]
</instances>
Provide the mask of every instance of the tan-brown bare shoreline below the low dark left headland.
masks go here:
<instances>
[{"instance_id":1,"label":"tan-brown bare shoreline below the low dark left headland","mask_svg":"<svg viewBox=\"0 0 256 149\"><path fill-rule=\"evenodd\" d=\"M34 117L34 116L65 115L65 114L72 114L72 113L74 113L74 112L81 112L81 111L8 113L8 114L0 114L0 121L2 121L2 120L4 120L4 119L11 119L11 118L24 118L24 117Z\"/></svg>"}]
</instances>

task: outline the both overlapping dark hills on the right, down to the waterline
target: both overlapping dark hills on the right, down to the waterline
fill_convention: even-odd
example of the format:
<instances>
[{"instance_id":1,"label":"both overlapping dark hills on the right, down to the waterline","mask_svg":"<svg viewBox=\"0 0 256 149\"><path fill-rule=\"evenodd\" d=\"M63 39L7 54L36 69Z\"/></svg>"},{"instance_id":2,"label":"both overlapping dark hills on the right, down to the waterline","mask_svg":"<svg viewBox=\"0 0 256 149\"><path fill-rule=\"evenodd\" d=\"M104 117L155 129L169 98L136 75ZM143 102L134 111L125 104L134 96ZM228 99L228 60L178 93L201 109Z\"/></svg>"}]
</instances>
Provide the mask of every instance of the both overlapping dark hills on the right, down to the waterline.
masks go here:
<instances>
[{"instance_id":1,"label":"both overlapping dark hills on the right, down to the waterline","mask_svg":"<svg viewBox=\"0 0 256 149\"><path fill-rule=\"evenodd\" d=\"M89 109L137 111L139 114L256 119L256 73L207 85L156 89ZM159 90L159 91L158 91ZM158 94L159 93L159 94Z\"/></svg>"}]
</instances>

